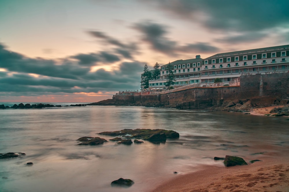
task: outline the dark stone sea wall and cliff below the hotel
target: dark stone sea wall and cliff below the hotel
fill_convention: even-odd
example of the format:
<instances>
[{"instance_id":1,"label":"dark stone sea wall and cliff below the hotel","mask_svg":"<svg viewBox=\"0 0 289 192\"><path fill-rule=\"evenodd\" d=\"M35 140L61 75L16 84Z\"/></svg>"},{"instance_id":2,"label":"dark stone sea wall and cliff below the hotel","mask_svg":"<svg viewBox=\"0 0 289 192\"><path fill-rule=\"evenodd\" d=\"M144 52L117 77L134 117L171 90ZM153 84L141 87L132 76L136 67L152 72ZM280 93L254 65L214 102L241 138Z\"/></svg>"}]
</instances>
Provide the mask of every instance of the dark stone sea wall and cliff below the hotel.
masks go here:
<instances>
[{"instance_id":1,"label":"dark stone sea wall and cliff below the hotel","mask_svg":"<svg viewBox=\"0 0 289 192\"><path fill-rule=\"evenodd\" d=\"M191 88L158 95L115 95L92 105L135 105L207 109L210 107L247 107L288 104L289 73L248 75L240 77L240 86ZM248 102L249 101L249 102ZM245 108L243 106L243 108Z\"/></svg>"}]
</instances>

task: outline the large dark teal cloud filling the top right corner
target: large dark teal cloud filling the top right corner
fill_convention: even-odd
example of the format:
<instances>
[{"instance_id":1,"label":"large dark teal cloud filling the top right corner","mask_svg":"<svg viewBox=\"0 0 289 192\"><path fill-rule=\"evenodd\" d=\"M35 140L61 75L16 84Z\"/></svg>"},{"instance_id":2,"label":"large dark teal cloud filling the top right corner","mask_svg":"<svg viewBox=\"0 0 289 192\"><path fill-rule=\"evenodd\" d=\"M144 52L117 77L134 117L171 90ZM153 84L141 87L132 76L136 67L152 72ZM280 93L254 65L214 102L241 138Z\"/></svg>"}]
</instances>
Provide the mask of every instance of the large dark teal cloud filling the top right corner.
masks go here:
<instances>
[{"instance_id":1,"label":"large dark teal cloud filling the top right corner","mask_svg":"<svg viewBox=\"0 0 289 192\"><path fill-rule=\"evenodd\" d=\"M262 31L289 24L288 0L156 0L159 9L210 30ZM202 17L202 15L205 16Z\"/></svg>"}]
</instances>

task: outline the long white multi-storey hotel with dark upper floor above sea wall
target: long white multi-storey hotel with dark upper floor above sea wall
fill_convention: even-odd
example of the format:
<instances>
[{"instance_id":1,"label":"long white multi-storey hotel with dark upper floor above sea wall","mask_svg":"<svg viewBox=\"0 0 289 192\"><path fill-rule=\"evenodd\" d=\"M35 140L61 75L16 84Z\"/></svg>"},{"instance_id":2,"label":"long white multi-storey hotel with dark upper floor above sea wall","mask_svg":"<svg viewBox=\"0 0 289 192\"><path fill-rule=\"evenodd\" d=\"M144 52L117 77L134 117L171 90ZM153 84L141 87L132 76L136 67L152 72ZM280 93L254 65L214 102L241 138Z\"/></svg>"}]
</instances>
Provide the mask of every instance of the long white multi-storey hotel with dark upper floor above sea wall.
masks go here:
<instances>
[{"instance_id":1,"label":"long white multi-storey hotel with dark upper floor above sea wall","mask_svg":"<svg viewBox=\"0 0 289 192\"><path fill-rule=\"evenodd\" d=\"M289 45L265 47L259 49L219 53L202 59L176 60L170 64L174 67L175 85L180 87L192 83L214 83L215 78L232 81L244 73L275 73L289 71ZM169 63L168 63L169 64ZM149 80L149 89L166 89L165 64L160 67L160 78ZM144 77L142 75L141 80ZM141 86L143 90L143 85Z\"/></svg>"}]
</instances>

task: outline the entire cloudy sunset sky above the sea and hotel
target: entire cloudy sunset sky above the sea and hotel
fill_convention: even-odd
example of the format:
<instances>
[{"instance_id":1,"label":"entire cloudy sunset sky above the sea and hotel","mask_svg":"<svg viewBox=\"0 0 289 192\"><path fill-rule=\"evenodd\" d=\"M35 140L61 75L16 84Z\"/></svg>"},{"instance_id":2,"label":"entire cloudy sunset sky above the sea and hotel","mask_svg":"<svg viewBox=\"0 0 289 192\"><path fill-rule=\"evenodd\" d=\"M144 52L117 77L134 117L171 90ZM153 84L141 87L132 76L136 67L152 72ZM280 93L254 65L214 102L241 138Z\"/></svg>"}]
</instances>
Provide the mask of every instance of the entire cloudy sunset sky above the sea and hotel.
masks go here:
<instances>
[{"instance_id":1,"label":"entire cloudy sunset sky above the sea and hotel","mask_svg":"<svg viewBox=\"0 0 289 192\"><path fill-rule=\"evenodd\" d=\"M288 0L0 0L0 102L97 102L147 64L289 44Z\"/></svg>"}]
</instances>

